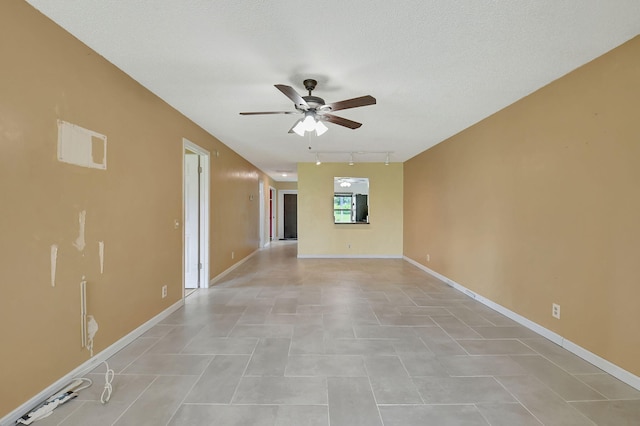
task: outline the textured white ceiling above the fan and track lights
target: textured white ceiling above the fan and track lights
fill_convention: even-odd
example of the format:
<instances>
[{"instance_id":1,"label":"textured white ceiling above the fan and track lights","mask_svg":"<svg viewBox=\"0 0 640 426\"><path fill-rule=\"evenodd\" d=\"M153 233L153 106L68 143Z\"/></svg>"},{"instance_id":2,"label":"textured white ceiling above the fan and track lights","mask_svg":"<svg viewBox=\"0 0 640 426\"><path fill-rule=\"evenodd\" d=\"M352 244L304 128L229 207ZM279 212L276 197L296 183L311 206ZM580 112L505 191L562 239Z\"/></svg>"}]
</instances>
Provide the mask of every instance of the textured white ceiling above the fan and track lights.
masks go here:
<instances>
[{"instance_id":1,"label":"textured white ceiling above the fan and track lights","mask_svg":"<svg viewBox=\"0 0 640 426\"><path fill-rule=\"evenodd\" d=\"M640 0L27 1L280 181L310 151L408 160L640 33ZM273 85L305 78L378 103L310 138L238 114L293 110Z\"/></svg>"}]
</instances>

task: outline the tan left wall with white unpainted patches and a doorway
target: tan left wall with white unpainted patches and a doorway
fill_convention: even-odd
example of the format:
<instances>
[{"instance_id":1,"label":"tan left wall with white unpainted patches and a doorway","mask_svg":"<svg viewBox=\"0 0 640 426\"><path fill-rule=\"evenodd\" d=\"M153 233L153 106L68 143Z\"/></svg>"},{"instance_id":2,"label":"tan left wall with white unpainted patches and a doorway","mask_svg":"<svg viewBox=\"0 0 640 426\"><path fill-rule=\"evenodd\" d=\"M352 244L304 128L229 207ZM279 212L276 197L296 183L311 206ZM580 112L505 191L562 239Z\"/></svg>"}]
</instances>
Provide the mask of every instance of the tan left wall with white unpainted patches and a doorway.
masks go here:
<instances>
[{"instance_id":1,"label":"tan left wall with white unpainted patches and a doorway","mask_svg":"<svg viewBox=\"0 0 640 426\"><path fill-rule=\"evenodd\" d=\"M89 358L83 276L96 353L180 299L183 137L220 154L211 157L211 277L256 250L249 196L260 178L274 182L25 2L0 2L0 40L2 417ZM58 119L108 137L106 171L57 160Z\"/></svg>"}]
</instances>

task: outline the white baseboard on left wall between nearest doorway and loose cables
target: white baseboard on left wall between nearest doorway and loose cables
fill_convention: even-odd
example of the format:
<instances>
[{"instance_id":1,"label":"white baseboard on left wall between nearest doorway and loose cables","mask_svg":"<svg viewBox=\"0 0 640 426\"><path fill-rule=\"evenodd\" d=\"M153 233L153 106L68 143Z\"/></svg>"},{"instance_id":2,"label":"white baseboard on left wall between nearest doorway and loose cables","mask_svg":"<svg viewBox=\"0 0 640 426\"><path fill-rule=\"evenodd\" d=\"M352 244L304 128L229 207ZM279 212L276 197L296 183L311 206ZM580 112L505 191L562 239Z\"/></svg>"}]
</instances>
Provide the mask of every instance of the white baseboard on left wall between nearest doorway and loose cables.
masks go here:
<instances>
[{"instance_id":1,"label":"white baseboard on left wall between nearest doorway and loose cables","mask_svg":"<svg viewBox=\"0 0 640 426\"><path fill-rule=\"evenodd\" d=\"M115 355L118 351L123 349L129 343L133 342L135 339L137 339L138 337L142 336L144 333L149 331L151 327L158 324L160 321L162 321L163 319L167 318L169 315L171 315L172 313L180 309L183 305L184 305L184 299L180 299L178 302L169 306L167 309L160 312L158 315L151 318L149 321L145 322L140 327L136 328L131 333L127 334L126 336L124 336L123 338L121 338L120 340L118 340L108 348L94 355L93 358L90 358L86 362L82 363L73 371L64 375L63 377L58 379L55 383L51 384L46 389L43 389L33 398L29 399L27 402L20 405L15 410L11 411L9 414L7 414L2 419L0 419L0 426L15 425L16 421L20 417L24 416L26 413L30 412L35 407L40 405L43 401L45 401L51 395L53 395L54 393L56 393L57 391L65 387L67 384L69 384L69 382L71 382L73 379L77 377L81 377L84 374L87 374L89 371L96 368L98 365L100 365L102 362L109 359L111 356ZM37 422L34 424L37 424Z\"/></svg>"}]
</instances>

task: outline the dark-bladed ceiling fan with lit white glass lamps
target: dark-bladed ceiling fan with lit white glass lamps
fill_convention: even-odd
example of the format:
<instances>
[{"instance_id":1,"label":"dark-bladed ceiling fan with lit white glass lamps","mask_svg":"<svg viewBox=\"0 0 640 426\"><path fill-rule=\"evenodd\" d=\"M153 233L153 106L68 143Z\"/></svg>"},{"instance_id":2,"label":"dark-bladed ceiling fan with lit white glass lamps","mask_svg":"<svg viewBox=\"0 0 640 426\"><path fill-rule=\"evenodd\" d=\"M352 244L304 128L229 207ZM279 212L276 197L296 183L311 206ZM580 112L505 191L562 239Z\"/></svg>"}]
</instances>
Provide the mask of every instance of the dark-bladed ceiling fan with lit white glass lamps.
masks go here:
<instances>
[{"instance_id":1,"label":"dark-bladed ceiling fan with lit white glass lamps","mask_svg":"<svg viewBox=\"0 0 640 426\"><path fill-rule=\"evenodd\" d=\"M322 123L328 121L339 126L348 127L349 129L357 129L362 123L348 120L330 114L333 111L342 109L356 108L367 105L374 105L376 98L373 96L360 96L359 98L347 99L340 102L326 104L324 99L313 96L311 92L316 88L318 82L313 79L303 81L305 89L309 91L308 96L300 96L291 86L284 84L276 84L276 88L280 90L286 97L293 101L295 111L265 111L265 112L241 112L240 115L261 115L261 114L304 114L304 118L299 119L289 129L289 133L297 133L304 136L305 132L314 131L318 136L327 131L327 127Z\"/></svg>"}]
</instances>

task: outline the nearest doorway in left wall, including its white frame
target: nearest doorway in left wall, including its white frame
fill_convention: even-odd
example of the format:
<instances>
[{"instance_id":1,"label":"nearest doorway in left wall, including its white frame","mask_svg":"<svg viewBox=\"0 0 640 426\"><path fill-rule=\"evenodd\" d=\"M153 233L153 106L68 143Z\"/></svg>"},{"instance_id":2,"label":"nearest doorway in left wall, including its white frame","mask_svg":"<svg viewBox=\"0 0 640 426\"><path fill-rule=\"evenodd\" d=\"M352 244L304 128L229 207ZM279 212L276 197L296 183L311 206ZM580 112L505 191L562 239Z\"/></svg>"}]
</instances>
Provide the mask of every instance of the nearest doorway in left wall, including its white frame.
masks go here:
<instances>
[{"instance_id":1,"label":"nearest doorway in left wall, including its white frame","mask_svg":"<svg viewBox=\"0 0 640 426\"><path fill-rule=\"evenodd\" d=\"M209 151L183 143L183 289L184 296L209 287Z\"/></svg>"}]
</instances>

